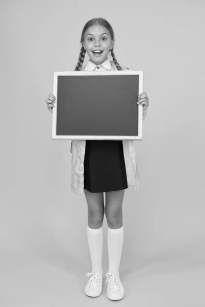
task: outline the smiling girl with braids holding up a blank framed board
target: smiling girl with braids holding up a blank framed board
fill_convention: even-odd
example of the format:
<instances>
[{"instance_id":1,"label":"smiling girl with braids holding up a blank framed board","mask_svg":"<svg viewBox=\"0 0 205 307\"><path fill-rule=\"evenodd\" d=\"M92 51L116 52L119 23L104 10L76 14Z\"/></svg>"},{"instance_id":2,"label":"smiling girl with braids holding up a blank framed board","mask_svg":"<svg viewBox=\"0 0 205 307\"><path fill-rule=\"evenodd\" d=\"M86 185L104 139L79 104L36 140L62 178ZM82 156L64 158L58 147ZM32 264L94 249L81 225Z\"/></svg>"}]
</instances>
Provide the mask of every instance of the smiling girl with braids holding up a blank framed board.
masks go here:
<instances>
[{"instance_id":1,"label":"smiling girl with braids holding up a blank framed board","mask_svg":"<svg viewBox=\"0 0 205 307\"><path fill-rule=\"evenodd\" d=\"M129 70L121 68L114 55L114 31L104 18L89 20L83 28L80 42L82 47L75 71ZM83 65L86 52L89 61ZM108 59L111 52L113 61ZM145 92L139 96L138 104L143 105L143 119L147 116L149 99ZM50 94L46 100L52 112L55 97ZM97 99L97 97L96 97ZM73 148L73 150L72 150ZM92 272L85 293L96 297L103 290L103 220L106 214L108 223L109 270L107 277L107 296L119 300L125 290L119 277L119 264L124 227L122 225L122 201L125 189L139 189L138 171L135 160L134 141L71 141L71 191L85 193L88 204L88 245ZM104 206L104 192L106 206Z\"/></svg>"}]
</instances>

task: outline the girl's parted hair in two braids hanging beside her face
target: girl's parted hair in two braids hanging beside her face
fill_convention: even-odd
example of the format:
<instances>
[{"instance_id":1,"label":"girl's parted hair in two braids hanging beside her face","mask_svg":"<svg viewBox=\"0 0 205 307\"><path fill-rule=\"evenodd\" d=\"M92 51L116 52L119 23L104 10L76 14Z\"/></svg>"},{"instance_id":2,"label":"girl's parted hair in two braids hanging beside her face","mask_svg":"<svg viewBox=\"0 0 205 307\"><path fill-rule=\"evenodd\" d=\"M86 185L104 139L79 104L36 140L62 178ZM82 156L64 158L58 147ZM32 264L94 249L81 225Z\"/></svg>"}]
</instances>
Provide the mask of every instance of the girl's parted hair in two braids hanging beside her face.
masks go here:
<instances>
[{"instance_id":1,"label":"girl's parted hair in two braids hanging beside her face","mask_svg":"<svg viewBox=\"0 0 205 307\"><path fill-rule=\"evenodd\" d=\"M105 19L105 18L93 18L93 19L90 19L84 26L83 28L83 31L82 31L82 34L81 34L81 39L80 39L80 43L83 43L84 41L84 35L85 35L85 32L86 30L93 26L93 25L100 25L100 26L104 26L105 28L108 29L108 31L110 32L110 36L111 36L111 39L113 40L114 39L114 31L113 31L113 28L112 26L110 25L110 23ZM113 61L117 67L117 70L122 70L119 63L117 62L116 60L116 57L114 55L114 51L113 51L113 48L110 50L111 51L111 55L112 55L112 58L113 58ZM81 47L80 49L80 54L79 54L79 57L78 57L78 62L77 62L77 65L75 67L75 71L80 71L81 68L83 67L83 63L84 63L84 59L85 59L85 55L86 55L86 49L83 47Z\"/></svg>"}]
</instances>

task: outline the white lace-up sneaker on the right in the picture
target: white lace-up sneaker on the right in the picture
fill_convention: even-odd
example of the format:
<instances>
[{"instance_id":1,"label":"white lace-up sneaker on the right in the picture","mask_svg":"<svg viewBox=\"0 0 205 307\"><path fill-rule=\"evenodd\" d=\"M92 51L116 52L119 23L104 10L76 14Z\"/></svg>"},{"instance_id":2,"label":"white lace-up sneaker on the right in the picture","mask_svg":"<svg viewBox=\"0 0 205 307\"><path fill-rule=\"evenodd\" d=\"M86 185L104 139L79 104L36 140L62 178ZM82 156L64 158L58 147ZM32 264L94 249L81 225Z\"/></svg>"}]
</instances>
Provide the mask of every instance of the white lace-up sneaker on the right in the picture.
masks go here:
<instances>
[{"instance_id":1,"label":"white lace-up sneaker on the right in the picture","mask_svg":"<svg viewBox=\"0 0 205 307\"><path fill-rule=\"evenodd\" d=\"M119 300L124 298L125 289L122 286L119 277L110 273L107 273L106 277L107 277L106 283L108 281L107 297L111 300Z\"/></svg>"}]
</instances>

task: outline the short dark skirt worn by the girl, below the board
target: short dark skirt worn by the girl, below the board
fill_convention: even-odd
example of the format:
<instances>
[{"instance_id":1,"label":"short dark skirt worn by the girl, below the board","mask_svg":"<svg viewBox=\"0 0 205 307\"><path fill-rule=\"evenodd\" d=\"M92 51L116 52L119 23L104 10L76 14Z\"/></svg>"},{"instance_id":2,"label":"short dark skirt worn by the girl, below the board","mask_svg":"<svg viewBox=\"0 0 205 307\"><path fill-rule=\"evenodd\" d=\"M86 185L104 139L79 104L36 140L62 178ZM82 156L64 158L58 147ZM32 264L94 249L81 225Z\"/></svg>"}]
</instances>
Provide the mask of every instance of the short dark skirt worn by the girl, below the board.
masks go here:
<instances>
[{"instance_id":1,"label":"short dark skirt worn by the girl, below the board","mask_svg":"<svg viewBox=\"0 0 205 307\"><path fill-rule=\"evenodd\" d=\"M84 189L99 193L127 188L122 140L86 141Z\"/></svg>"}]
</instances>

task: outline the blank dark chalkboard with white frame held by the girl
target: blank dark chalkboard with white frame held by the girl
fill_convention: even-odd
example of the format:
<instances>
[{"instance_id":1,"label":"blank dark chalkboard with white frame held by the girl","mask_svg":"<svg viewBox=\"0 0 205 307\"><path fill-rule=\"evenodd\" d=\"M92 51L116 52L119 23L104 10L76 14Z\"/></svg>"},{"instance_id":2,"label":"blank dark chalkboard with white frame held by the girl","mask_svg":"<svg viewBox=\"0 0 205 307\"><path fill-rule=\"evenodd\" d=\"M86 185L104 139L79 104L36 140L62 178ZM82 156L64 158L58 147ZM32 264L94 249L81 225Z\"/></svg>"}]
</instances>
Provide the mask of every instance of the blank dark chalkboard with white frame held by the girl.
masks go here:
<instances>
[{"instance_id":1,"label":"blank dark chalkboard with white frame held by the girl","mask_svg":"<svg viewBox=\"0 0 205 307\"><path fill-rule=\"evenodd\" d=\"M142 140L142 71L54 72L53 139Z\"/></svg>"}]
</instances>

